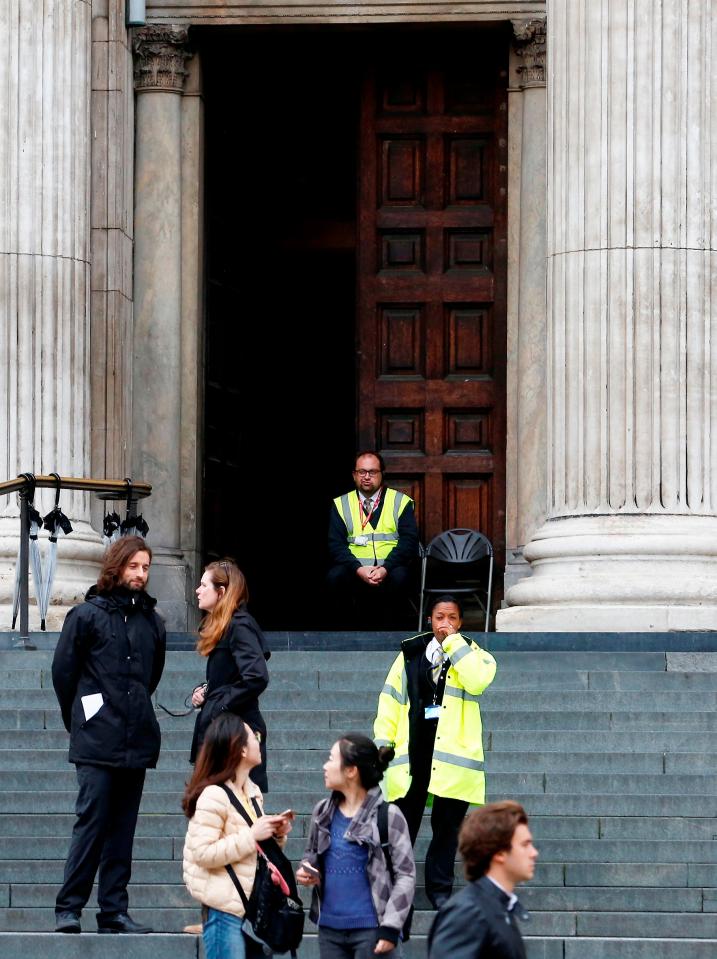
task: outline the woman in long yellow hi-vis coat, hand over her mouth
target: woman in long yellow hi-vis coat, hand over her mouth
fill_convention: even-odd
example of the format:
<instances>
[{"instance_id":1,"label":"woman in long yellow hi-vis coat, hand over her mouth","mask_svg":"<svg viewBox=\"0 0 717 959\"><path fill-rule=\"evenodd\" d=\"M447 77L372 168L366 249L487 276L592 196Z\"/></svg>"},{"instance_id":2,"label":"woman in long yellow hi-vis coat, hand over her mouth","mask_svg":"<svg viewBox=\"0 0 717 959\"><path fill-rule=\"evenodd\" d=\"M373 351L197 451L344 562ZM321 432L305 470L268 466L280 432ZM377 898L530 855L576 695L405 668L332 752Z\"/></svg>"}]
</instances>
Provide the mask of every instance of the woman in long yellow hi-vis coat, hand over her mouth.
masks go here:
<instances>
[{"instance_id":1,"label":"woman in long yellow hi-vis coat, hand over her mouth","mask_svg":"<svg viewBox=\"0 0 717 959\"><path fill-rule=\"evenodd\" d=\"M485 802L478 699L496 664L461 635L463 609L454 596L438 596L429 612L431 632L404 640L389 670L374 738L379 746L394 745L384 791L406 817L413 843L433 796L425 881L437 909L453 888L458 830L468 806Z\"/></svg>"}]
</instances>

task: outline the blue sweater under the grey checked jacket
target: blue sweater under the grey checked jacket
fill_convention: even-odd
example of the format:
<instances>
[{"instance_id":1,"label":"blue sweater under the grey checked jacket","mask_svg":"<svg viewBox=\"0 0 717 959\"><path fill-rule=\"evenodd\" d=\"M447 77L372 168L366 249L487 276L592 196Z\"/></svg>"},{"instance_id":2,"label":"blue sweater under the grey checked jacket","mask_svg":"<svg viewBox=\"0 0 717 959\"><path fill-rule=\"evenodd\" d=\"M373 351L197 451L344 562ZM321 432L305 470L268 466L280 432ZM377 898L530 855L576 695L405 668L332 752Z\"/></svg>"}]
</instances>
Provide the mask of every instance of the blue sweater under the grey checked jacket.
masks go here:
<instances>
[{"instance_id":1,"label":"blue sweater under the grey checked jacket","mask_svg":"<svg viewBox=\"0 0 717 959\"><path fill-rule=\"evenodd\" d=\"M375 929L376 909L366 872L368 848L345 838L351 820L337 809L331 845L324 854L319 925L327 929Z\"/></svg>"}]
</instances>

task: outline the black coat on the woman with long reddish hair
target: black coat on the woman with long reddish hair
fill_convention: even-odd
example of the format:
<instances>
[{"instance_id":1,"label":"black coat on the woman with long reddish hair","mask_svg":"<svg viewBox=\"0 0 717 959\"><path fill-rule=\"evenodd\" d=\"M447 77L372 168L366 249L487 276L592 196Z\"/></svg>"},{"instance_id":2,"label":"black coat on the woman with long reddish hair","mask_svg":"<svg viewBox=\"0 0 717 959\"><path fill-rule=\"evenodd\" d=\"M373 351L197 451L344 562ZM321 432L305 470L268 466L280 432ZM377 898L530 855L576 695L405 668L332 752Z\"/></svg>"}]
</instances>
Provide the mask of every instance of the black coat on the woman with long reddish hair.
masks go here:
<instances>
[{"instance_id":1,"label":"black coat on the woman with long reddish hair","mask_svg":"<svg viewBox=\"0 0 717 959\"><path fill-rule=\"evenodd\" d=\"M266 723L259 711L259 696L269 684L266 661L271 656L264 634L246 606L236 610L227 631L207 657L207 693L194 726L189 761L194 762L207 727L222 712L237 713L261 733L261 766L251 772L262 792L266 777Z\"/></svg>"}]
</instances>

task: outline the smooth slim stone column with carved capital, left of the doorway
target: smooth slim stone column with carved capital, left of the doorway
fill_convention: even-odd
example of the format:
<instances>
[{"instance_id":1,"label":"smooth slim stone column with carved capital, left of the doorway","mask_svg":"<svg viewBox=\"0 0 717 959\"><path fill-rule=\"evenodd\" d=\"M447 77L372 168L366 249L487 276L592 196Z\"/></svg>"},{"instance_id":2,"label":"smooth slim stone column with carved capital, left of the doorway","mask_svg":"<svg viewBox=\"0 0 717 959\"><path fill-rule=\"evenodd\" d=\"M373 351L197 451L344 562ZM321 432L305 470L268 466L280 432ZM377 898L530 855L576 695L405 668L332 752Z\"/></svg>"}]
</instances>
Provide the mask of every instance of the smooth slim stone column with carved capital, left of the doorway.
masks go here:
<instances>
[{"instance_id":1,"label":"smooth slim stone column with carved capital, left of the doorway","mask_svg":"<svg viewBox=\"0 0 717 959\"><path fill-rule=\"evenodd\" d=\"M182 91L187 30L135 33L134 365L132 469L155 551L152 588L169 629L187 627L181 548Z\"/></svg>"}]
</instances>

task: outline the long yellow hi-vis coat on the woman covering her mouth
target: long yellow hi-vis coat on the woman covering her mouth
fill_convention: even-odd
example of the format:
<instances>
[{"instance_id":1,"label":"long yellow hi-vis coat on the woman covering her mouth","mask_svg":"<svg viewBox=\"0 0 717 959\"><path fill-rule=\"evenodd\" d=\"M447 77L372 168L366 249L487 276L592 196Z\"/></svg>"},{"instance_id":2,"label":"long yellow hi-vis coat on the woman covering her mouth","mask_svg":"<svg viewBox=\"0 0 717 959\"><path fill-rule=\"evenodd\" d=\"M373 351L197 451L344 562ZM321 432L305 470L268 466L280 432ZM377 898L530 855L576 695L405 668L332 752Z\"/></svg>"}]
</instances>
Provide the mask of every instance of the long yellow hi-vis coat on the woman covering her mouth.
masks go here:
<instances>
[{"instance_id":1,"label":"long yellow hi-vis coat on the woman covering her mouth","mask_svg":"<svg viewBox=\"0 0 717 959\"><path fill-rule=\"evenodd\" d=\"M460 633L446 639L443 650L448 655L450 666L436 730L428 791L434 796L481 805L485 802L485 774L478 699L495 677L496 662L490 653ZM403 653L399 653L378 697L373 727L376 745L393 744L396 750L381 783L389 802L405 796L411 785L408 709L406 661Z\"/></svg>"}]
</instances>

